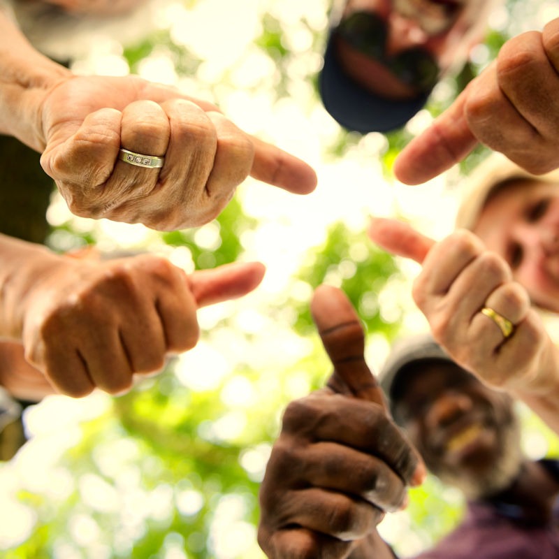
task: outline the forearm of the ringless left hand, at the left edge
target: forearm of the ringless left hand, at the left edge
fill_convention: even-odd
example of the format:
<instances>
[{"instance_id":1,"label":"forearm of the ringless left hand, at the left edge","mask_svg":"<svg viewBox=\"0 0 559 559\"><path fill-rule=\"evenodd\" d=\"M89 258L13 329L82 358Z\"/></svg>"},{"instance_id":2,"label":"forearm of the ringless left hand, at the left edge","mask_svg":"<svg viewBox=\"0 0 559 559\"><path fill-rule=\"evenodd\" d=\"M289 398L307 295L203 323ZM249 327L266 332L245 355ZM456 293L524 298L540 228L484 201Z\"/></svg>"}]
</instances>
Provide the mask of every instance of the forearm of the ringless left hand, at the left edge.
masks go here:
<instances>
[{"instance_id":1,"label":"forearm of the ringless left hand, at the left edge","mask_svg":"<svg viewBox=\"0 0 559 559\"><path fill-rule=\"evenodd\" d=\"M42 245L0 235L0 337L22 339L34 287L62 258Z\"/></svg>"}]
</instances>

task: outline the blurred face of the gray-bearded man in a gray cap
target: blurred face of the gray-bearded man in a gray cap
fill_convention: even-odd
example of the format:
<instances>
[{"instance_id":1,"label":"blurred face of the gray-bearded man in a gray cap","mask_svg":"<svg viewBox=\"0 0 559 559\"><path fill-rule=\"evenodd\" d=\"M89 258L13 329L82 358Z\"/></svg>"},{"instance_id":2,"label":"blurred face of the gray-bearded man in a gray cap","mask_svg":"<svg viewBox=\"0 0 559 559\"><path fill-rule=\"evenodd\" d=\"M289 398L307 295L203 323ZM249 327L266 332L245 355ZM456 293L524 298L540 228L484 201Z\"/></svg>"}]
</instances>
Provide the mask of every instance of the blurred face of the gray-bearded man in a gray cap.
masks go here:
<instances>
[{"instance_id":1,"label":"blurred face of the gray-bearded man in a gray cap","mask_svg":"<svg viewBox=\"0 0 559 559\"><path fill-rule=\"evenodd\" d=\"M449 361L421 361L398 376L395 417L427 467L468 498L508 486L521 467L510 398Z\"/></svg>"}]
</instances>

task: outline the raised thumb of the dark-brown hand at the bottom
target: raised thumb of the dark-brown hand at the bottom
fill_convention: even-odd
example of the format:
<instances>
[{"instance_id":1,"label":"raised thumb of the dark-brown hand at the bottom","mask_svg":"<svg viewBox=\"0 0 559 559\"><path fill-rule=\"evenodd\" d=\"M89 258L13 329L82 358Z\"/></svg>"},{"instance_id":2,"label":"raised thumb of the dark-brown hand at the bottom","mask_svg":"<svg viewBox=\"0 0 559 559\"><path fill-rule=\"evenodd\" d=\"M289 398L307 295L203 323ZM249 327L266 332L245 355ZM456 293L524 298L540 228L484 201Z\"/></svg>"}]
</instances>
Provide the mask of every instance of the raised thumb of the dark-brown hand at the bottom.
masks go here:
<instances>
[{"instance_id":1,"label":"raised thumb of the dark-brown hand at the bottom","mask_svg":"<svg viewBox=\"0 0 559 559\"><path fill-rule=\"evenodd\" d=\"M337 392L347 387L356 398L387 410L379 383L365 362L363 326L347 296L333 286L321 285L314 291L310 309L334 365L328 385Z\"/></svg>"}]
</instances>

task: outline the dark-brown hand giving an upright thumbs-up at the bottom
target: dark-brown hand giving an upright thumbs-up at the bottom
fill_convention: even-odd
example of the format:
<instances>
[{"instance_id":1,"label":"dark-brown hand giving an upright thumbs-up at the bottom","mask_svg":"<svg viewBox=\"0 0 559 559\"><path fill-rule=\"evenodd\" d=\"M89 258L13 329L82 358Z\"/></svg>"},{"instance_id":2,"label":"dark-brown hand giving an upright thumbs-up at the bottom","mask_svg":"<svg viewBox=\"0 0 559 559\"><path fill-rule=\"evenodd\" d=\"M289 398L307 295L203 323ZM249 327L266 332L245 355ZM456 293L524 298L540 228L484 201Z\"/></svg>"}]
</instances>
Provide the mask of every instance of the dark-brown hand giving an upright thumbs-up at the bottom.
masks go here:
<instances>
[{"instance_id":1,"label":"dark-brown hand giving an upright thumbs-up at the bottom","mask_svg":"<svg viewBox=\"0 0 559 559\"><path fill-rule=\"evenodd\" d=\"M405 505L424 466L384 407L349 300L320 286L311 310L335 369L285 411L261 486L259 544L273 559L392 558L375 527Z\"/></svg>"}]
</instances>

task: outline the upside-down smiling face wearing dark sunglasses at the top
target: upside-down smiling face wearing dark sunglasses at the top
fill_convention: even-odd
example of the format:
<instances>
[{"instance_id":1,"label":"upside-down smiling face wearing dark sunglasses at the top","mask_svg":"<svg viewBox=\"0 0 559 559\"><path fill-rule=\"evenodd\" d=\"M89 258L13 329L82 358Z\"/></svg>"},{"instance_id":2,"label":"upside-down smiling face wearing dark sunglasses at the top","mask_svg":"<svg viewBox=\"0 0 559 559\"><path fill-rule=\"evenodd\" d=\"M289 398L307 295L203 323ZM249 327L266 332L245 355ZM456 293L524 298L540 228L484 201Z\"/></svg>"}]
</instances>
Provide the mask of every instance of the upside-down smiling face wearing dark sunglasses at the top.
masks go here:
<instances>
[{"instance_id":1,"label":"upside-down smiling face wearing dark sunglasses at the top","mask_svg":"<svg viewBox=\"0 0 559 559\"><path fill-rule=\"evenodd\" d=\"M349 0L337 57L344 71L371 92L412 99L449 69L463 66L500 1Z\"/></svg>"}]
</instances>

